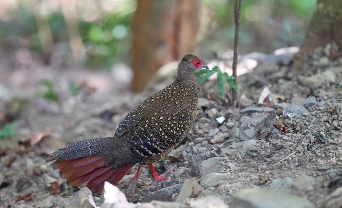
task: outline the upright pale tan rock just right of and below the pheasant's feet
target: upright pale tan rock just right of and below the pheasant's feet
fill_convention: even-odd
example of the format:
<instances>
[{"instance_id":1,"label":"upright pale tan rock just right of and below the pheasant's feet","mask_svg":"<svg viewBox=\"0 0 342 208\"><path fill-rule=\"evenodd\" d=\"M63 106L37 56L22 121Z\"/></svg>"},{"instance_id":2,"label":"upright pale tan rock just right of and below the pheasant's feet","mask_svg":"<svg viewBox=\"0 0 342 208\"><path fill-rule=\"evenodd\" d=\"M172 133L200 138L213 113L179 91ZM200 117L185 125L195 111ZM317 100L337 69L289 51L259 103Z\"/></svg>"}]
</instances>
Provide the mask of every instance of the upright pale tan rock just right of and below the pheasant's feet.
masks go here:
<instances>
[{"instance_id":1,"label":"upright pale tan rock just right of and below the pheasant's feet","mask_svg":"<svg viewBox=\"0 0 342 208\"><path fill-rule=\"evenodd\" d=\"M186 198L195 198L200 191L202 191L202 187L194 178L186 178L182 188L180 189L176 202L182 203Z\"/></svg>"}]
</instances>

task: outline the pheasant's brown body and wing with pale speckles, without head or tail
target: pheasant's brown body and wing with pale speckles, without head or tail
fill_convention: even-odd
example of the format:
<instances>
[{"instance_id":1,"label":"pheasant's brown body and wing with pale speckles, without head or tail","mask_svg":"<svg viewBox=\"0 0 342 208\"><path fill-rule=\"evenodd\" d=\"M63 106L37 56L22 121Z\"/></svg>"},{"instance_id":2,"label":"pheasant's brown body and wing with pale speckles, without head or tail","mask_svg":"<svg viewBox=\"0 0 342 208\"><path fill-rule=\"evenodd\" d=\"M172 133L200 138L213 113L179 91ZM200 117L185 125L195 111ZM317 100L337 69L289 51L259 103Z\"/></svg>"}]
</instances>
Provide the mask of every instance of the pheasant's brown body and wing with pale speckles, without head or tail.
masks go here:
<instances>
[{"instance_id":1,"label":"pheasant's brown body and wing with pale speckles, without head or tail","mask_svg":"<svg viewBox=\"0 0 342 208\"><path fill-rule=\"evenodd\" d=\"M125 138L125 147L141 157L142 163L166 156L189 132L198 93L197 79L173 82L132 109L120 122L115 136Z\"/></svg>"}]
</instances>

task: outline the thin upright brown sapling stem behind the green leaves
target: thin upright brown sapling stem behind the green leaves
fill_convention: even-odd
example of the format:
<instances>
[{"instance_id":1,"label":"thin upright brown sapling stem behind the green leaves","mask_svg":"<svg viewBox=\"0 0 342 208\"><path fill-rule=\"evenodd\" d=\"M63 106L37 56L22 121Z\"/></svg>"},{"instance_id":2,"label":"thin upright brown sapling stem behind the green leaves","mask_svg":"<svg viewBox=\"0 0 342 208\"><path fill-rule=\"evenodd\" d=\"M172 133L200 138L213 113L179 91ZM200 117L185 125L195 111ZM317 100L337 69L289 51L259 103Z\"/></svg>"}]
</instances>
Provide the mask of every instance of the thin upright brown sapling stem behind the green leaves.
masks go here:
<instances>
[{"instance_id":1,"label":"thin upright brown sapling stem behind the green leaves","mask_svg":"<svg viewBox=\"0 0 342 208\"><path fill-rule=\"evenodd\" d=\"M239 28L240 28L240 8L241 8L241 0L234 0L234 21L235 21L235 37L234 37L234 56L233 56L233 77L235 78L235 83L237 84L237 52L238 52L238 42L239 42ZM232 101L233 104L237 104L237 92L235 90L232 91Z\"/></svg>"}]
</instances>

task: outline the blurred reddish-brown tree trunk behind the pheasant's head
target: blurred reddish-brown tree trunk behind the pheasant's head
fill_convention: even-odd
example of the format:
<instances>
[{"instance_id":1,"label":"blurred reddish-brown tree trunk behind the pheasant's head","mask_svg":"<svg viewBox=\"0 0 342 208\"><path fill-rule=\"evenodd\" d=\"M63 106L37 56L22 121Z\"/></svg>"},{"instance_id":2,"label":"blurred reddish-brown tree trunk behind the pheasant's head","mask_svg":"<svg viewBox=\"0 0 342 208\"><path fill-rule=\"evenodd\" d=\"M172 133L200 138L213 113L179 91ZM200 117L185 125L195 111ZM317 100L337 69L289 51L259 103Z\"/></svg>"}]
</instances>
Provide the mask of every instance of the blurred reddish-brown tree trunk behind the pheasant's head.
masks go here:
<instances>
[{"instance_id":1,"label":"blurred reddish-brown tree trunk behind the pheasant's head","mask_svg":"<svg viewBox=\"0 0 342 208\"><path fill-rule=\"evenodd\" d=\"M162 65L191 52L199 0L137 0L132 31L132 91L141 91Z\"/></svg>"}]
</instances>

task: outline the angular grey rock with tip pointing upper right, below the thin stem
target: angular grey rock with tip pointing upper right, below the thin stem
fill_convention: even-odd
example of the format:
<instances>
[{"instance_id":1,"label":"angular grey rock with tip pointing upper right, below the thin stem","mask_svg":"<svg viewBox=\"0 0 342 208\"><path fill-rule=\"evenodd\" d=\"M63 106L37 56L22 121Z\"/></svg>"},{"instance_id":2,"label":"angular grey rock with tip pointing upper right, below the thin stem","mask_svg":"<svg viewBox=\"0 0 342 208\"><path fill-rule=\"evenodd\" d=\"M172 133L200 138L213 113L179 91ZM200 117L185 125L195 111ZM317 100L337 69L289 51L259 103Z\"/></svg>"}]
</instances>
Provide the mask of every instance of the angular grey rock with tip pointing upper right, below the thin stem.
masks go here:
<instances>
[{"instance_id":1,"label":"angular grey rock with tip pointing upper right, below the thin stem","mask_svg":"<svg viewBox=\"0 0 342 208\"><path fill-rule=\"evenodd\" d=\"M251 119L247 119L243 121L239 128L240 139L243 141L246 141L255 137L258 134L258 131L255 130L254 127L258 123L260 123L264 118L266 118L266 115L259 115L255 118L251 118Z\"/></svg>"}]
</instances>

